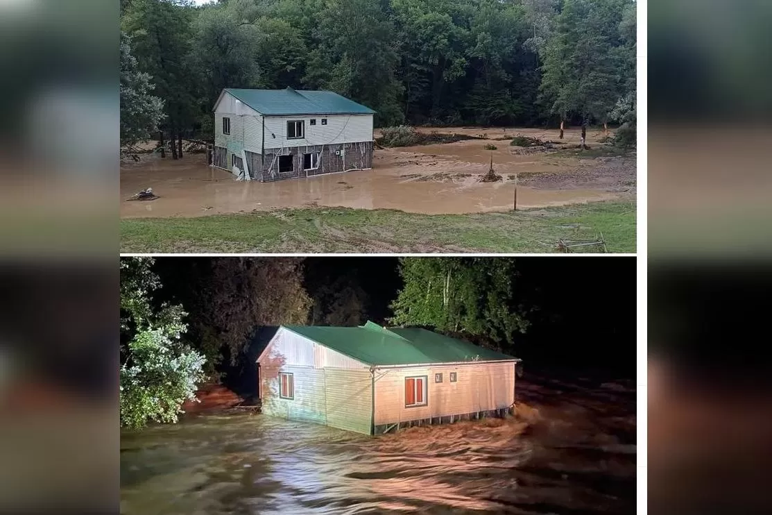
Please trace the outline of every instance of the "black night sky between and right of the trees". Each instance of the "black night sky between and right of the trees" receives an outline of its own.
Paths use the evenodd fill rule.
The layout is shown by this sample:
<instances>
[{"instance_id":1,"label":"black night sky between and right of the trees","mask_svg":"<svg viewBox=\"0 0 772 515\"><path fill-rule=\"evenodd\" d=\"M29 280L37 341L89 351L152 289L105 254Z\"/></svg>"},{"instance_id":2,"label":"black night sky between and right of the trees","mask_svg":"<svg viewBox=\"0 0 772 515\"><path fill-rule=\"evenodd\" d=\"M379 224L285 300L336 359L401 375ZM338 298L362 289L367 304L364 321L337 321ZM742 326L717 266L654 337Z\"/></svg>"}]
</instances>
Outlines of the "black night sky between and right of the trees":
<instances>
[{"instance_id":1,"label":"black night sky between and right of the trees","mask_svg":"<svg viewBox=\"0 0 772 515\"><path fill-rule=\"evenodd\" d=\"M515 344L517 357L537 366L635 374L635 258L557 256L515 262L518 295L540 307ZM391 317L389 304L402 286L397 258L310 258L305 264L306 276L354 270L370 295L368 317L378 324Z\"/></svg>"}]
</instances>

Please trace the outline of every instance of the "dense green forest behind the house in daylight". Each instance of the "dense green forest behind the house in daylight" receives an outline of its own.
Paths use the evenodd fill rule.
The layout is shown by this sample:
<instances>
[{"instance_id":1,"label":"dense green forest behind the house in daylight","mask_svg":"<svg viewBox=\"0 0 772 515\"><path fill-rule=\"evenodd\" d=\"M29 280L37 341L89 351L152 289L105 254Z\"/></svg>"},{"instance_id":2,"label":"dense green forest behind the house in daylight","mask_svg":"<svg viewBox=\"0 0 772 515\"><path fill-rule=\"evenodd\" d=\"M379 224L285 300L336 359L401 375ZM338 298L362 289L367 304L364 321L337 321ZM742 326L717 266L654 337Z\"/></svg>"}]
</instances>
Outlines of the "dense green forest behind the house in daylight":
<instances>
[{"instance_id":1,"label":"dense green forest behind the house in daylight","mask_svg":"<svg viewBox=\"0 0 772 515\"><path fill-rule=\"evenodd\" d=\"M121 0L121 143L157 137L158 128L211 139L225 87L333 90L376 110L378 127L634 129L635 8L634 0Z\"/></svg>"}]
</instances>

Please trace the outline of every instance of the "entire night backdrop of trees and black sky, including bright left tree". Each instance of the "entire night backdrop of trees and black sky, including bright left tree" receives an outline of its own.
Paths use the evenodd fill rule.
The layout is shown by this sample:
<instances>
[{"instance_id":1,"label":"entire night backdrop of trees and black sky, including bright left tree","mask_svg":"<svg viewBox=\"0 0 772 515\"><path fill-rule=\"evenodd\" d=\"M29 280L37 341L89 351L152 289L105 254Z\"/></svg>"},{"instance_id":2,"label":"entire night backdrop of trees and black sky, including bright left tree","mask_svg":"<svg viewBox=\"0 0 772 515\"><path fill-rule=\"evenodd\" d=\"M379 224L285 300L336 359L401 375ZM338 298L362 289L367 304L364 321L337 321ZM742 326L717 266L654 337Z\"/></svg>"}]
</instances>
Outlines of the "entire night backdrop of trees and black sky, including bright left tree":
<instances>
[{"instance_id":1,"label":"entire night backdrop of trees and black sky, including bright left tree","mask_svg":"<svg viewBox=\"0 0 772 515\"><path fill-rule=\"evenodd\" d=\"M203 381L243 382L280 324L427 327L529 366L634 371L635 281L602 285L635 260L568 261L122 259L122 425L174 422Z\"/></svg>"}]
</instances>

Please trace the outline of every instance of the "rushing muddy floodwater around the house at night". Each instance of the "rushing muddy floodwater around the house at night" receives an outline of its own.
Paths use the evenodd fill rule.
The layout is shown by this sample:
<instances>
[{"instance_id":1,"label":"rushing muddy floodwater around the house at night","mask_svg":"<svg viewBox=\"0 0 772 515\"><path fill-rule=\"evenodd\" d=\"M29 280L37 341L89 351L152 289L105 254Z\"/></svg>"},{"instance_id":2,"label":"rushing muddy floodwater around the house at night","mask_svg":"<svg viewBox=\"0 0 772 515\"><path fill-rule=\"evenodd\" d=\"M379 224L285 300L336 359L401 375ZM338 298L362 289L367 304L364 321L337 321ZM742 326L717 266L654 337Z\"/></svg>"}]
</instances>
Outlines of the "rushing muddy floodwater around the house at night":
<instances>
[{"instance_id":1,"label":"rushing muddy floodwater around the house at night","mask_svg":"<svg viewBox=\"0 0 772 515\"><path fill-rule=\"evenodd\" d=\"M635 387L520 381L520 415L369 437L200 415L121 438L121 513L635 513Z\"/></svg>"}]
</instances>

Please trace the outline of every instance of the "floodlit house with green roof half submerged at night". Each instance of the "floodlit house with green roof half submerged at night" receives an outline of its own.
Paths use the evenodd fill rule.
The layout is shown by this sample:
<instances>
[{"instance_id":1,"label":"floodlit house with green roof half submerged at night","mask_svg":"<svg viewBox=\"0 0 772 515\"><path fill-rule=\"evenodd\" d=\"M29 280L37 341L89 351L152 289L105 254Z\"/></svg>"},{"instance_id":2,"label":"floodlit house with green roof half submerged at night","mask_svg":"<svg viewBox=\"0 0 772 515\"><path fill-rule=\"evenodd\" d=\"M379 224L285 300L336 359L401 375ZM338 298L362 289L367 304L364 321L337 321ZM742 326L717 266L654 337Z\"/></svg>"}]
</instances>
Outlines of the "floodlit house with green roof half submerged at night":
<instances>
[{"instance_id":1,"label":"floodlit house with green roof half submerged at night","mask_svg":"<svg viewBox=\"0 0 772 515\"><path fill-rule=\"evenodd\" d=\"M518 361L425 329L281 326L259 398L266 415L382 434L510 413Z\"/></svg>"}]
</instances>

